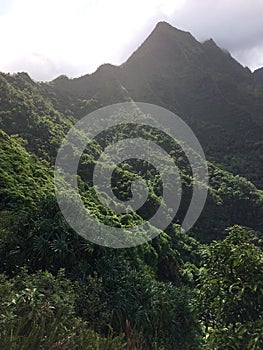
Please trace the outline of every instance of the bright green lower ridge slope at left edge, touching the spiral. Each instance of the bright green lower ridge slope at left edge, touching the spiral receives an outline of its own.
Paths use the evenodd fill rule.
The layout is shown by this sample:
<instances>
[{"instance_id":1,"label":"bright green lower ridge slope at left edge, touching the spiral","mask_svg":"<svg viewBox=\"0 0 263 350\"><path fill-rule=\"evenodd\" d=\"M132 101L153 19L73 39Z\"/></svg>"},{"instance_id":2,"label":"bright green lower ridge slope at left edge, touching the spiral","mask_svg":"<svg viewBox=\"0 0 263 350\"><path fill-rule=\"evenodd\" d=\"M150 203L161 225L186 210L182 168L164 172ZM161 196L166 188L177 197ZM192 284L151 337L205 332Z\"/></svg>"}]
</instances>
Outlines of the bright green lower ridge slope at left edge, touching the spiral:
<instances>
[{"instance_id":1,"label":"bright green lower ridge slope at left edge, touching the spiral","mask_svg":"<svg viewBox=\"0 0 263 350\"><path fill-rule=\"evenodd\" d=\"M51 170L26 152L19 141L0 130L0 212L36 205L53 189Z\"/></svg>"}]
</instances>

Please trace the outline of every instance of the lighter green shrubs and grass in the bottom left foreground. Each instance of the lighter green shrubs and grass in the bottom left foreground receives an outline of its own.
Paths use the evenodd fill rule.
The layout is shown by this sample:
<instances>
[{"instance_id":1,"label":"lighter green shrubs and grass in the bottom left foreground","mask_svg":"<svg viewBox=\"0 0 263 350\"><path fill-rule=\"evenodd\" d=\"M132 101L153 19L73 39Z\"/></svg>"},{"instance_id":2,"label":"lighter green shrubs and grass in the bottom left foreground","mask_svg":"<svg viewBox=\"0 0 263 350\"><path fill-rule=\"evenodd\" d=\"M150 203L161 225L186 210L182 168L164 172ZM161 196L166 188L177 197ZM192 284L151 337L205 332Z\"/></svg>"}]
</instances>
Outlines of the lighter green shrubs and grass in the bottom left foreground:
<instances>
[{"instance_id":1,"label":"lighter green shrubs and grass in the bottom left foreground","mask_svg":"<svg viewBox=\"0 0 263 350\"><path fill-rule=\"evenodd\" d=\"M23 269L12 279L0 275L0 282L1 349L121 350L126 347L123 335L115 337L112 331L105 335L94 329L96 322L101 325L108 322L97 294L98 279L89 278L83 287L65 278L62 271L55 277L48 272L29 275ZM80 308L84 318L79 317Z\"/></svg>"}]
</instances>

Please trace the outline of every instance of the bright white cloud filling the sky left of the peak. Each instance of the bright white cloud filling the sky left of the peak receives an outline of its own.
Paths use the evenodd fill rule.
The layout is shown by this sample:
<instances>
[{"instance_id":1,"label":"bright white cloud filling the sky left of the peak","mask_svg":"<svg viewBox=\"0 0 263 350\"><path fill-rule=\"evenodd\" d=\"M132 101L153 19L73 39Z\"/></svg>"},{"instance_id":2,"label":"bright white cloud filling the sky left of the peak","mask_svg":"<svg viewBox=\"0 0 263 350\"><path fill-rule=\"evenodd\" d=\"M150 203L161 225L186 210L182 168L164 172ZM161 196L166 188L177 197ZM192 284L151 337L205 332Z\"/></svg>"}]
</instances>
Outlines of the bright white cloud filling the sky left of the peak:
<instances>
[{"instance_id":1,"label":"bright white cloud filling the sky left of the peak","mask_svg":"<svg viewBox=\"0 0 263 350\"><path fill-rule=\"evenodd\" d=\"M122 46L155 15L157 2L15 0L0 19L0 69L46 79L119 63Z\"/></svg>"}]
</instances>

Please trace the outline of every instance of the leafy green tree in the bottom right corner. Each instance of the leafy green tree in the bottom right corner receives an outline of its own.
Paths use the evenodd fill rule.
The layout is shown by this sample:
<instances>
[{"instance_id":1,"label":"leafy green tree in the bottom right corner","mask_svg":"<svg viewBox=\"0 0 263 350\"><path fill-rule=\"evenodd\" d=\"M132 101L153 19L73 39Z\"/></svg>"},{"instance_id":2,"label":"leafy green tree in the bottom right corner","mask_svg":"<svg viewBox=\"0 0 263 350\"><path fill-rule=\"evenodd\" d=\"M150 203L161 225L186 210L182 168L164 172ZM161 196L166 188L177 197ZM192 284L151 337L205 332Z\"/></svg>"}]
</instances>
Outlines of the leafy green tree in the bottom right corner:
<instances>
[{"instance_id":1,"label":"leafy green tree in the bottom right corner","mask_svg":"<svg viewBox=\"0 0 263 350\"><path fill-rule=\"evenodd\" d=\"M262 349L260 243L251 230L234 226L225 240L204 248L198 309L207 349Z\"/></svg>"}]
</instances>

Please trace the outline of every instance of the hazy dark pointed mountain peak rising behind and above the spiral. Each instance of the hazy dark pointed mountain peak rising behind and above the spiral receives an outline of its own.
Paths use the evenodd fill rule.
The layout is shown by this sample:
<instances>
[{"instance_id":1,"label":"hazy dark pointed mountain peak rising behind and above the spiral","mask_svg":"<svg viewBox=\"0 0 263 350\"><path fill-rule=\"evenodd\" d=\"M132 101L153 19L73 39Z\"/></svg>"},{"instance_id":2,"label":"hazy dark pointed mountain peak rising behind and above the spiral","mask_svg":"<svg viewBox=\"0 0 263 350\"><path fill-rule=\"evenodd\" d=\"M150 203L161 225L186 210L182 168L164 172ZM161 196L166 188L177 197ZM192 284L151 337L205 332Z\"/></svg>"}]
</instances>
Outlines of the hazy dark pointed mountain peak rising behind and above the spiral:
<instances>
[{"instance_id":1,"label":"hazy dark pointed mountain peak rising behind and above the spiral","mask_svg":"<svg viewBox=\"0 0 263 350\"><path fill-rule=\"evenodd\" d=\"M210 160L263 187L263 91L249 69L213 40L199 43L161 22L120 67L62 76L42 91L76 118L129 99L164 106L186 120Z\"/></svg>"}]
</instances>

